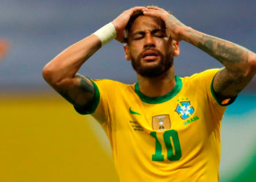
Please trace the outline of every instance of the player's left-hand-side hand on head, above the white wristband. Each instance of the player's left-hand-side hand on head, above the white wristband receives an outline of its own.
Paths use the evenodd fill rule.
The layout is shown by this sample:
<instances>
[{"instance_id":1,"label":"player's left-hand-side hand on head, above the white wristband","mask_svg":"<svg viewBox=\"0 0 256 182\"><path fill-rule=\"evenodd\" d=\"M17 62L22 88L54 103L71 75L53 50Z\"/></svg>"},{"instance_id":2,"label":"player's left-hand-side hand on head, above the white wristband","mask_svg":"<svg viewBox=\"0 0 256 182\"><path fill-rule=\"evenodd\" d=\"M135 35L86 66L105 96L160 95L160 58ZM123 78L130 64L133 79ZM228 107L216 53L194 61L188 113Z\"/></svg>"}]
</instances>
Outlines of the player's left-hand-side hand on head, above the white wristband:
<instances>
[{"instance_id":1,"label":"player's left-hand-side hand on head, above the white wristband","mask_svg":"<svg viewBox=\"0 0 256 182\"><path fill-rule=\"evenodd\" d=\"M125 27L129 21L129 18L132 16L134 12L142 11L146 9L146 7L132 7L121 13L115 20L112 21L113 25L116 28L116 40L124 43L124 31Z\"/></svg>"}]
</instances>

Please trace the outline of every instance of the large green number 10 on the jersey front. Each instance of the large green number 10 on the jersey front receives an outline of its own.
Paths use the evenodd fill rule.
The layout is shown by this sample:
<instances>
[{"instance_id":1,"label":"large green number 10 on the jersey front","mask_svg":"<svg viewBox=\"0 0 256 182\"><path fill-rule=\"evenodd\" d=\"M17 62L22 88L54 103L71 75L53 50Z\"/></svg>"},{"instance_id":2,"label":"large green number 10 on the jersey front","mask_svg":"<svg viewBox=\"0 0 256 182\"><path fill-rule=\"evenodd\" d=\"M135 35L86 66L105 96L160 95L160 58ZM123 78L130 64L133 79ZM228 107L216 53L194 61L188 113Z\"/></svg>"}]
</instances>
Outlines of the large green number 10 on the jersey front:
<instances>
[{"instance_id":1,"label":"large green number 10 on the jersey front","mask_svg":"<svg viewBox=\"0 0 256 182\"><path fill-rule=\"evenodd\" d=\"M150 135L156 139L156 150L155 154L152 155L152 161L164 161L165 156L162 154L162 145L157 138L157 132L151 132ZM162 137L167 149L167 159L170 161L181 159L181 144L178 140L178 132L176 130L167 130Z\"/></svg>"}]
</instances>

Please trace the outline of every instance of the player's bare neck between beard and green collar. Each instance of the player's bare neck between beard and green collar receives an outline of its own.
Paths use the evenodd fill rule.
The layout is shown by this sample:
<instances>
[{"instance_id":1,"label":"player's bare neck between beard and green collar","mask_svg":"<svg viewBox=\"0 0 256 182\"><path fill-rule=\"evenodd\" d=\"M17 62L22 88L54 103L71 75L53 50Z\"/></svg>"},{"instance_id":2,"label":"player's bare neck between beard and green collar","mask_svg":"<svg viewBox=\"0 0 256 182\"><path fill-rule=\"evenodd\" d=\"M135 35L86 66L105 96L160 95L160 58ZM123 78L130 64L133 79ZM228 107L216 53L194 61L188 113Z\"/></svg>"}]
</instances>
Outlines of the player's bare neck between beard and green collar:
<instances>
[{"instance_id":1,"label":"player's bare neck between beard and green collar","mask_svg":"<svg viewBox=\"0 0 256 182\"><path fill-rule=\"evenodd\" d=\"M148 97L159 97L167 94L176 85L174 67L170 67L164 74L148 78L138 74L140 92Z\"/></svg>"}]
</instances>

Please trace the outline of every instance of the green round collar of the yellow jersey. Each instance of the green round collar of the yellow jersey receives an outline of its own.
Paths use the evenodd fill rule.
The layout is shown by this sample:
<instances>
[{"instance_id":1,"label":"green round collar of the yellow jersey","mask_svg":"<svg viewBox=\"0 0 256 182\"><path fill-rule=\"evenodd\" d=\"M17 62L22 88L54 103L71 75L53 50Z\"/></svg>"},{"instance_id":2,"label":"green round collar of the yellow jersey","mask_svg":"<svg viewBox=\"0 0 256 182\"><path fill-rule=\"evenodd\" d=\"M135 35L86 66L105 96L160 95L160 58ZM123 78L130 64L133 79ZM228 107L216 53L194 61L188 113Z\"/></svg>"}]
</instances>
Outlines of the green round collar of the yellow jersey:
<instances>
[{"instance_id":1,"label":"green round collar of the yellow jersey","mask_svg":"<svg viewBox=\"0 0 256 182\"><path fill-rule=\"evenodd\" d=\"M140 92L140 87L138 82L136 82L135 84L135 92L140 97L140 99L145 103L151 103L151 104L164 103L165 101L170 100L175 95L177 95L177 93L181 90L181 87L182 87L181 78L178 76L175 76L175 81L176 81L176 85L173 88L173 90L170 90L170 92L168 92L167 94L159 97L148 97L144 95L142 92Z\"/></svg>"}]
</instances>

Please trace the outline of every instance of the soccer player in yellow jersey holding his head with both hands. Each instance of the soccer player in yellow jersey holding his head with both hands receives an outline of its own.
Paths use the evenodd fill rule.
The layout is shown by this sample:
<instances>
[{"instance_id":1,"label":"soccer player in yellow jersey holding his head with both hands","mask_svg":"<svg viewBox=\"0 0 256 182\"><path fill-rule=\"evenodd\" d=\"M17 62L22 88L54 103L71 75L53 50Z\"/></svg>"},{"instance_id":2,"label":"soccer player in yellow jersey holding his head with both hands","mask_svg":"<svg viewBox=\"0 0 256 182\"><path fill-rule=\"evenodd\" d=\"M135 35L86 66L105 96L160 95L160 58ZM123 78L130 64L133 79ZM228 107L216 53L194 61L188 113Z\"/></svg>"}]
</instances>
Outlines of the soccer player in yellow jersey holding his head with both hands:
<instances>
[{"instance_id":1,"label":"soccer player in yellow jersey holding his head with both hands","mask_svg":"<svg viewBox=\"0 0 256 182\"><path fill-rule=\"evenodd\" d=\"M116 38L138 75L135 84L77 74ZM187 41L223 64L175 76L173 57ZM106 63L108 64L108 63ZM218 181L225 108L256 73L256 55L184 25L159 7L133 7L61 52L45 80L80 114L92 114L110 140L120 181Z\"/></svg>"}]
</instances>

